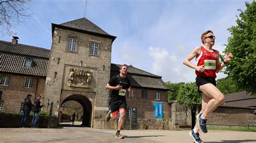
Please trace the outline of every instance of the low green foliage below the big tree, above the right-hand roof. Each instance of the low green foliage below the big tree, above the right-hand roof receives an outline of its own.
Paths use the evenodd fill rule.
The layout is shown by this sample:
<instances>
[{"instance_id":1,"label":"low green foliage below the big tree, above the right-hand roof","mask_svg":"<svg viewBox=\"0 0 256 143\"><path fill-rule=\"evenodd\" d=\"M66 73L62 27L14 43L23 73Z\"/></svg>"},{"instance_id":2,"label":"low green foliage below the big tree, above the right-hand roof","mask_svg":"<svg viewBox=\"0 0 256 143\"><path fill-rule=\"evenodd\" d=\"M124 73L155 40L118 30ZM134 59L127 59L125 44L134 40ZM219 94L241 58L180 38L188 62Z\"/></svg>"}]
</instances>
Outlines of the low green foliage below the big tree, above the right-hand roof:
<instances>
[{"instance_id":1,"label":"low green foliage below the big tree, above the right-hand roof","mask_svg":"<svg viewBox=\"0 0 256 143\"><path fill-rule=\"evenodd\" d=\"M217 81L217 88L225 95L240 91L245 91L244 88L238 86L238 84L230 77L221 78Z\"/></svg>"}]
</instances>

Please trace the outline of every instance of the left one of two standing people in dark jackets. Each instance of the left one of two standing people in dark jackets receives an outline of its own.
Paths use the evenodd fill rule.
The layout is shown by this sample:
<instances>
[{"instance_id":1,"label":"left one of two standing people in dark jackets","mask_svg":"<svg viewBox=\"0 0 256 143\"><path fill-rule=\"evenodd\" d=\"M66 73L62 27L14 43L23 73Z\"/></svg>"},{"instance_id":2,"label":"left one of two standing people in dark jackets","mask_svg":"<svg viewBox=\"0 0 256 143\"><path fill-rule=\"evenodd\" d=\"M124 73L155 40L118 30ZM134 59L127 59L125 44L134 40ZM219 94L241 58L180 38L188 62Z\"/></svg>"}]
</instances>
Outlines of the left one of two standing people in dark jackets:
<instances>
[{"instance_id":1,"label":"left one of two standing people in dark jackets","mask_svg":"<svg viewBox=\"0 0 256 143\"><path fill-rule=\"evenodd\" d=\"M29 114L31 112L31 108L32 106L35 106L35 104L32 104L31 102L31 97L32 95L31 94L28 94L26 96L26 98L24 99L24 104L23 104L23 118L22 118L22 121L21 121L21 126L19 127L26 127L26 121L28 120L29 118Z\"/></svg>"}]
</instances>

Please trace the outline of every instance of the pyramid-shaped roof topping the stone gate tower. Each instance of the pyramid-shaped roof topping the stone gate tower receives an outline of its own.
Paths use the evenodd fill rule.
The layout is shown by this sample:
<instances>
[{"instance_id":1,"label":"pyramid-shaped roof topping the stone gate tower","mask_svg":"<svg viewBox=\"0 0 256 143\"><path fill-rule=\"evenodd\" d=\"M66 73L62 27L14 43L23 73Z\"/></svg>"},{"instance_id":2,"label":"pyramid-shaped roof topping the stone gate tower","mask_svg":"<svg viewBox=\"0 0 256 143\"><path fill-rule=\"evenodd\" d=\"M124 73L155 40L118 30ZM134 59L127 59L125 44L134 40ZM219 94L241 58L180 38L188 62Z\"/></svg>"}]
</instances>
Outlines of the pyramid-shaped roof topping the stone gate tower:
<instances>
[{"instance_id":1,"label":"pyramid-shaped roof topping the stone gate tower","mask_svg":"<svg viewBox=\"0 0 256 143\"><path fill-rule=\"evenodd\" d=\"M66 22L63 24L53 24L52 23L52 35L55 31L55 28L67 29L72 31L77 31L81 33L87 33L89 35L110 38L112 42L116 39L116 36L111 36L109 33L100 29L96 24L92 23L86 18L79 18L74 21Z\"/></svg>"}]
</instances>

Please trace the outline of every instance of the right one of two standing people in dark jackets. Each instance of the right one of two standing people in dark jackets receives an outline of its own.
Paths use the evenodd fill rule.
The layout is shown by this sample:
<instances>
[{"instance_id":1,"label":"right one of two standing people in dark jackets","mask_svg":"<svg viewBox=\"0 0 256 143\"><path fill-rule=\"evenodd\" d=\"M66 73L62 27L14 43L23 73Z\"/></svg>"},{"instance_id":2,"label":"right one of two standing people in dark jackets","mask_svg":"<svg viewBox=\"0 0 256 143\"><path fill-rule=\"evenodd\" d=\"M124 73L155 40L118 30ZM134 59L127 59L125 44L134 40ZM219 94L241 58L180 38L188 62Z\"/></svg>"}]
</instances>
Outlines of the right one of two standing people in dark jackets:
<instances>
[{"instance_id":1,"label":"right one of two standing people in dark jackets","mask_svg":"<svg viewBox=\"0 0 256 143\"><path fill-rule=\"evenodd\" d=\"M37 122L39 120L39 112L40 112L40 108L42 108L44 105L41 106L41 96L38 96L37 99L35 100L34 104L36 104L36 106L32 107L32 112L34 112L33 115L33 119L32 119L32 124L31 124L31 128L36 128L37 126Z\"/></svg>"}]
</instances>

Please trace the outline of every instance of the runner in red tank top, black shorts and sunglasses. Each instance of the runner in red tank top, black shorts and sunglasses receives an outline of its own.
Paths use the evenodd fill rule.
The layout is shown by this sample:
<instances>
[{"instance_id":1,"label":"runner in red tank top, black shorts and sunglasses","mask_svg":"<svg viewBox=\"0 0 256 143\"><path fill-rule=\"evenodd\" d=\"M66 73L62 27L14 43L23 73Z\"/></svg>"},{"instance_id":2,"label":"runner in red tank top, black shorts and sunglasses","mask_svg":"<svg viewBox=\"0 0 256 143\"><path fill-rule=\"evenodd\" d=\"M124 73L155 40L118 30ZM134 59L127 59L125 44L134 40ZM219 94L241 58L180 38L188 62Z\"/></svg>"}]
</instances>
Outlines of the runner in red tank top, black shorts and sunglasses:
<instances>
[{"instance_id":1,"label":"runner in red tank top, black shorts and sunglasses","mask_svg":"<svg viewBox=\"0 0 256 143\"><path fill-rule=\"evenodd\" d=\"M208 30L201 35L204 46L196 47L184 60L183 64L196 70L196 84L199 92L202 92L202 110L197 115L197 122L190 136L195 142L202 142L199 137L200 131L207 133L207 115L215 110L224 101L224 95L216 87L216 73L223 69L232 58L232 53L226 53L224 61L219 61L219 51L212 49L215 43L213 32ZM190 61L196 57L197 65Z\"/></svg>"}]
</instances>

